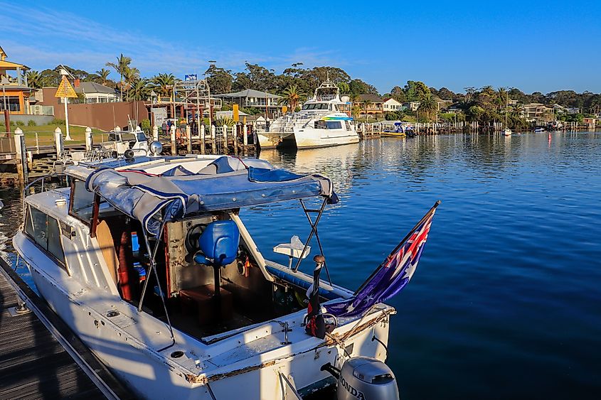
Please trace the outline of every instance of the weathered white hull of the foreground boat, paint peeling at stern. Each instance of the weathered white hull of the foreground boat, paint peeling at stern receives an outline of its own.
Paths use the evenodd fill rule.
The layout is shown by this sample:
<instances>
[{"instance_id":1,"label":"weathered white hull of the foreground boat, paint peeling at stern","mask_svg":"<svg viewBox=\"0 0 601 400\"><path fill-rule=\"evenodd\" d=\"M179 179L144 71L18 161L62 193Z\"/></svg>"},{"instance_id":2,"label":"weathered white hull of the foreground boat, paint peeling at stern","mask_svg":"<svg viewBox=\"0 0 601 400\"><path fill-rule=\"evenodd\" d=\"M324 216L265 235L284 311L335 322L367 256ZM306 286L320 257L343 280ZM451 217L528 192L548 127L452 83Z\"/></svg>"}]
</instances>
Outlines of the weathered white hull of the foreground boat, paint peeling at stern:
<instances>
[{"instance_id":1,"label":"weathered white hull of the foreground boat, paint peeling at stern","mask_svg":"<svg viewBox=\"0 0 601 400\"><path fill-rule=\"evenodd\" d=\"M203 374L185 374L181 369L170 365L167 362L169 360L160 352L149 350L143 342L128 337L115 325L114 320L105 315L107 310L123 310L124 306L134 313L136 311L133 306L120 298L114 298L112 302L106 301L106 297L100 292L97 293L97 297L90 296L94 295L90 293L93 291L90 288L80 289L82 293L87 291L87 301L78 299L78 293L70 293L76 286L73 278L50 259L41 259L34 251L35 246L27 244L27 241L28 239L21 234L20 240L14 241L15 248L28 264L41 296L85 345L90 347L139 398L211 400L213 397L208 389L210 387L217 399L285 399L287 389L282 386L280 374L294 382L299 390L314 387L319 382L327 382L330 375L320 368L328 362L340 367L344 362L344 348L351 356L363 355L385 360L384 347L378 341L371 340L373 335L376 335L382 342L388 342L390 315L383 313L371 322L370 318L363 320L362 325L371 323L367 328L362 326L359 330L355 325L353 328L356 328L357 332L349 335L344 341L344 348L336 345L336 342L324 342L315 337L308 337L313 343L312 346L297 352L290 346L289 352L285 352L281 357L270 358L269 354L265 354L265 357L260 357L260 362L255 364L225 363L227 372L213 374L208 378L204 378ZM34 257L37 257L39 262L34 262ZM97 301L95 307L90 298L102 298L102 301ZM292 329L303 328L297 326ZM139 333L142 340L154 339L151 337L153 333L147 332L142 326L139 326ZM193 338L188 337L188 340ZM178 340L178 344L186 346L182 341ZM166 354L171 351L172 349L166 350Z\"/></svg>"}]
</instances>

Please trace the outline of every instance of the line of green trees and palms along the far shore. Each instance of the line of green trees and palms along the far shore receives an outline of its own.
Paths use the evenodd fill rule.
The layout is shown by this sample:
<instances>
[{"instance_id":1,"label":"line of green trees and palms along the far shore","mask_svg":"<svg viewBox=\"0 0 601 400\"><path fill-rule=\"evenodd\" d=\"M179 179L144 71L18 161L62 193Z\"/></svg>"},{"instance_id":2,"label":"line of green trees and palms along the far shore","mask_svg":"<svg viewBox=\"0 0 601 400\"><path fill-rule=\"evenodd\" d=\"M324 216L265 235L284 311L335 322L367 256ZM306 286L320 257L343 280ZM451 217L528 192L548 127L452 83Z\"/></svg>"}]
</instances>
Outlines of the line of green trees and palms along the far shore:
<instances>
[{"instance_id":1,"label":"line of green trees and palms along the far shore","mask_svg":"<svg viewBox=\"0 0 601 400\"><path fill-rule=\"evenodd\" d=\"M97 82L109 87L115 87L122 93L124 100L147 99L154 90L161 97L171 97L173 87L178 78L172 73L159 73L153 77L142 77L137 67L132 65L132 58L120 54L115 61L107 62L95 72L87 72L65 66L73 77L83 82ZM339 67L312 67L306 68L303 63L294 63L277 74L275 70L268 69L258 64L245 63L245 69L239 72L226 70L211 63L204 73L213 93L238 92L245 89L255 89L272 92L282 96L282 104L289 109L297 109L314 90L326 79L331 80L341 90L341 93L350 97L353 102L353 114L358 116L365 112L370 103L362 100L361 94L376 94L378 90L373 85L353 78L349 73ZM60 66L53 70L46 69L40 72L31 70L27 73L28 84L39 88L57 86L60 82ZM465 87L464 93L452 92L446 87L436 89L428 87L424 82L409 80L403 87L394 86L390 92L382 97L392 97L398 102L420 102L416 113L392 112L388 119L419 119L430 121L433 118L454 118L467 121L501 121L505 118L514 126L523 124L521 112L523 104L561 104L565 107L577 107L587 114L601 112L601 94L592 92L577 93L573 90L560 90L543 94L533 92L526 94L515 87L491 86L482 88ZM508 107L509 99L517 101ZM454 104L461 113L459 116L445 115L444 108ZM421 114L421 115L420 115Z\"/></svg>"}]
</instances>

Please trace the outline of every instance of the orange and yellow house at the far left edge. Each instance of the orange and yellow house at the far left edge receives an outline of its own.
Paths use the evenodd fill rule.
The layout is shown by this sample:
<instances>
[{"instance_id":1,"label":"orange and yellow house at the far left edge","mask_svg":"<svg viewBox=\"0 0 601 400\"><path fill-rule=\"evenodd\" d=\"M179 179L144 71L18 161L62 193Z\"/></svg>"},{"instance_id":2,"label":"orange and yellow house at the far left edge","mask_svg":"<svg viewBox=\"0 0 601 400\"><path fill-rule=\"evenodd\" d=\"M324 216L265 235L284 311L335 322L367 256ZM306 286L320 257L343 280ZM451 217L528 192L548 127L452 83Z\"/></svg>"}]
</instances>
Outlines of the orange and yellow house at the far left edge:
<instances>
[{"instance_id":1,"label":"orange and yellow house at the far left edge","mask_svg":"<svg viewBox=\"0 0 601 400\"><path fill-rule=\"evenodd\" d=\"M9 110L10 114L30 114L29 97L36 92L27 84L29 70L23 64L6 60L6 53L0 47L0 111Z\"/></svg>"}]
</instances>

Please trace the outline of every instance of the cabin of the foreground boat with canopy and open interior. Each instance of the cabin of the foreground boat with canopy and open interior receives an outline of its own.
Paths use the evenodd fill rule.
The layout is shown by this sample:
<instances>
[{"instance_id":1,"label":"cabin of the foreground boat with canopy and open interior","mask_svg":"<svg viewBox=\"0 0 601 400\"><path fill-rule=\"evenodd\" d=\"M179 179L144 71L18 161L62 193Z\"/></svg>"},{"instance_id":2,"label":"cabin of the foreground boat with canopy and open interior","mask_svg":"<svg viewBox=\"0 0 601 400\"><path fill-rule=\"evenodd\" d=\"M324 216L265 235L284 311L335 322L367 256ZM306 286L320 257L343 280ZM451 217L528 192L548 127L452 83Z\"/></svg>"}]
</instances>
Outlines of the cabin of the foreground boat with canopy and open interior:
<instances>
[{"instance_id":1,"label":"cabin of the foreground boat with canopy and open interior","mask_svg":"<svg viewBox=\"0 0 601 400\"><path fill-rule=\"evenodd\" d=\"M66 173L69 187L53 191L65 215L26 200L24 232L73 278L198 339L307 308L310 277L266 261L239 212L316 195L325 205L335 199L326 178L227 156L136 157ZM321 294L350 293L324 282Z\"/></svg>"}]
</instances>

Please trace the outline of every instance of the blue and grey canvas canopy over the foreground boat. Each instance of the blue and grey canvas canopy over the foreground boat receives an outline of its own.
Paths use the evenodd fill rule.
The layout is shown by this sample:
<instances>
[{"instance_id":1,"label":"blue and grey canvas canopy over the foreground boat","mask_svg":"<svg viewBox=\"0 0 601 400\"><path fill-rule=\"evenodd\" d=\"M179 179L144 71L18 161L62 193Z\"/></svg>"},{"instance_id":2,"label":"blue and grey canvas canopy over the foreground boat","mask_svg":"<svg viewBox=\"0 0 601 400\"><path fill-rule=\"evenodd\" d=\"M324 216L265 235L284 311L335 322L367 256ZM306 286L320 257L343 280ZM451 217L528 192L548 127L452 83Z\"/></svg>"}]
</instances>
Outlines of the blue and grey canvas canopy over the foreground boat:
<instances>
[{"instance_id":1,"label":"blue and grey canvas canopy over the foreground boat","mask_svg":"<svg viewBox=\"0 0 601 400\"><path fill-rule=\"evenodd\" d=\"M159 215L169 222L199 212L314 196L338 201L329 178L275 169L266 161L258 165L240 166L222 157L203 168L205 171L174 168L158 176L135 166L124 171L100 166L87 176L86 187L142 222L153 235L159 230Z\"/></svg>"}]
</instances>

